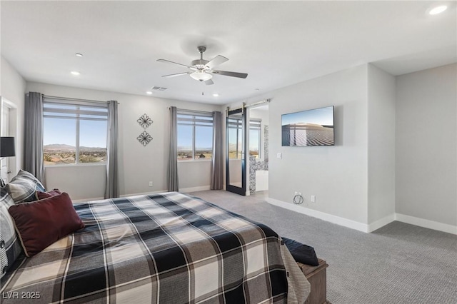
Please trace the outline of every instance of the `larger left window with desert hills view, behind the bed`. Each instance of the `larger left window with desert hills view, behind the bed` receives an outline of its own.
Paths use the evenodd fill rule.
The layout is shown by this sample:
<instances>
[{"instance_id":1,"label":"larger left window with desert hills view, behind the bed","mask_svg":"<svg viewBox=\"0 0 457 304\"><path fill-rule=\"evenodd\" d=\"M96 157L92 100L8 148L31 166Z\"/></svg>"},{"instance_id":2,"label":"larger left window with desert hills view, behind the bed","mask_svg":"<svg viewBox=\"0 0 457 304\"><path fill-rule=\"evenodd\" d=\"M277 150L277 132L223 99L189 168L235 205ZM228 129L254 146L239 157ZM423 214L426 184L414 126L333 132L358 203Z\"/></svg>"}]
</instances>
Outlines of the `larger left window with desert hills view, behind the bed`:
<instances>
[{"instance_id":1,"label":"larger left window with desert hills view, behind the bed","mask_svg":"<svg viewBox=\"0 0 457 304\"><path fill-rule=\"evenodd\" d=\"M44 98L44 165L106 162L104 103Z\"/></svg>"}]
</instances>

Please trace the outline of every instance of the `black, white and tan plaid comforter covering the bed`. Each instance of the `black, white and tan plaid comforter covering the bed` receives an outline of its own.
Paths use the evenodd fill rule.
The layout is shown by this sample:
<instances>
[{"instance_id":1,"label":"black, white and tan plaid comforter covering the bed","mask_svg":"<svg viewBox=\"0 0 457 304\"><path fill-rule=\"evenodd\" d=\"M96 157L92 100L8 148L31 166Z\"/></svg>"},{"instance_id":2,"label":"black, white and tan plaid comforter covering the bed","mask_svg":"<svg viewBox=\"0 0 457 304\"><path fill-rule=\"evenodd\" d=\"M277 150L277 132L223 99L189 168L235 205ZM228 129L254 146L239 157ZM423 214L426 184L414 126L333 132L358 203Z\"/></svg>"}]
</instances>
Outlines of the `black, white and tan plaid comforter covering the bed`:
<instances>
[{"instance_id":1,"label":"black, white and tan plaid comforter covering the bed","mask_svg":"<svg viewBox=\"0 0 457 304\"><path fill-rule=\"evenodd\" d=\"M1 280L2 303L286 303L309 293L273 230L199 198L74 207L86 228L22 258Z\"/></svg>"}]
</instances>

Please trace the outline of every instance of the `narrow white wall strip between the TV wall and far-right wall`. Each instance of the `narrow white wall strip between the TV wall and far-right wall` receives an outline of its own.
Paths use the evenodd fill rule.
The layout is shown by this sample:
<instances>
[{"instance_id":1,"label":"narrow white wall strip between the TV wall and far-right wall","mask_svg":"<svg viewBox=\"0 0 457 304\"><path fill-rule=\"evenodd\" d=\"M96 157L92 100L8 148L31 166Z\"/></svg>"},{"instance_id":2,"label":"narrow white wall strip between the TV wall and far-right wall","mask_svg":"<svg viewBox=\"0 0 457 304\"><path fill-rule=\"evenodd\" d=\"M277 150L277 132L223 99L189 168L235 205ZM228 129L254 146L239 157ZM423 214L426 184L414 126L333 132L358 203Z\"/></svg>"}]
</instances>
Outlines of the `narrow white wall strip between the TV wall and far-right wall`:
<instances>
[{"instance_id":1,"label":"narrow white wall strip between the TV wall and far-right wall","mask_svg":"<svg viewBox=\"0 0 457 304\"><path fill-rule=\"evenodd\" d=\"M395 218L395 77L368 64L368 223Z\"/></svg>"}]
</instances>

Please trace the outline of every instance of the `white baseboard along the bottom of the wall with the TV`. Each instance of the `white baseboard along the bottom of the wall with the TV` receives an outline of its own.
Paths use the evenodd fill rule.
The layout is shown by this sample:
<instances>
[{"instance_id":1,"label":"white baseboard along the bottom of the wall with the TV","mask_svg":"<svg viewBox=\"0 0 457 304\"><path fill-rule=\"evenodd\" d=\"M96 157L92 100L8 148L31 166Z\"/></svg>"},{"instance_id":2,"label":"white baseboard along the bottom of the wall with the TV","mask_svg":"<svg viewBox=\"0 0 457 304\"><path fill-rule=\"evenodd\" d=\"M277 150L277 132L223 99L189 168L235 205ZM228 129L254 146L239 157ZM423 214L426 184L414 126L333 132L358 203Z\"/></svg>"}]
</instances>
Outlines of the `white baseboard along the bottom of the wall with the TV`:
<instances>
[{"instance_id":1,"label":"white baseboard along the bottom of the wall with the TV","mask_svg":"<svg viewBox=\"0 0 457 304\"><path fill-rule=\"evenodd\" d=\"M340 226L345 226L348 228L352 228L355 230L359 230L362 232L369 232L368 231L368 225L363 224L363 223L358 223L356 221L348 220L347 218L341 218L340 216L333 216L328 213L324 213L321 211L316 211L310 208L306 207L301 207L296 204L291 204L291 203L286 203L283 201L278 201L274 198L266 198L266 201L268 203L271 203L271 205L278 206L281 208L286 208L291 211L296 211L298 213L303 213L306 214L306 216L312 216L313 218L319 218L323 221L327 221L330 223L334 223Z\"/></svg>"}]
</instances>

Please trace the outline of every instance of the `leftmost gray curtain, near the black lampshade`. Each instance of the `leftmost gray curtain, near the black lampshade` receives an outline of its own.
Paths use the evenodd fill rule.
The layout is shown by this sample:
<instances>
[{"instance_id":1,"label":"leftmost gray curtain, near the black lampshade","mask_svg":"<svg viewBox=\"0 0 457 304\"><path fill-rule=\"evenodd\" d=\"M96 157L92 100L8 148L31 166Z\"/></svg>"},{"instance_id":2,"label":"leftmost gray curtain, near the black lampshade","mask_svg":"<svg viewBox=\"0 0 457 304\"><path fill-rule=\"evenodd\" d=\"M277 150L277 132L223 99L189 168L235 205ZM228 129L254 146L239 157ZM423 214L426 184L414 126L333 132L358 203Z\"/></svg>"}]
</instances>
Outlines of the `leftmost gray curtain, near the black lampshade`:
<instances>
[{"instance_id":1,"label":"leftmost gray curtain, near the black lampshade","mask_svg":"<svg viewBox=\"0 0 457 304\"><path fill-rule=\"evenodd\" d=\"M43 95L29 92L25 98L24 170L44 183Z\"/></svg>"}]
</instances>

